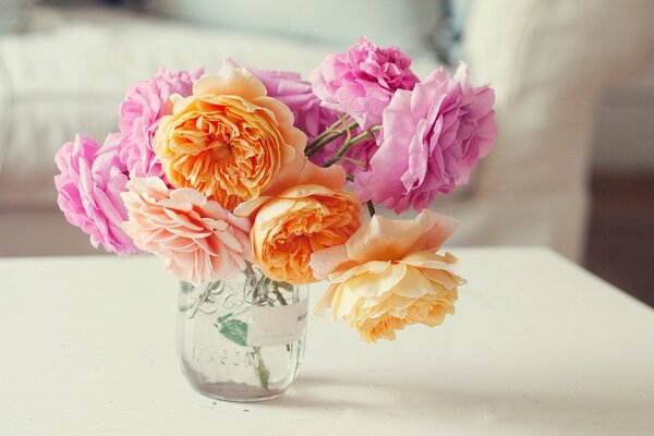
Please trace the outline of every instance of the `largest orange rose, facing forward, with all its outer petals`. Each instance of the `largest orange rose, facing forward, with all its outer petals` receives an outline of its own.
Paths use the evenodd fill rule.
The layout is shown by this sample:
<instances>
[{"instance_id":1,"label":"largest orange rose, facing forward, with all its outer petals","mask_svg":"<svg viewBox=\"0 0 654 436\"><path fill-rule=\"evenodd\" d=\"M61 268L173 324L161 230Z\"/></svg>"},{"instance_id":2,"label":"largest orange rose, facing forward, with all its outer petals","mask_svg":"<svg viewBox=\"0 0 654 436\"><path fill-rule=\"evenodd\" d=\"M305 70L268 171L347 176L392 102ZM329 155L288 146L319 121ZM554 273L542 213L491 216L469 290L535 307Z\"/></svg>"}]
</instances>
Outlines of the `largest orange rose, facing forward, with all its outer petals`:
<instances>
[{"instance_id":1,"label":"largest orange rose, facing forward, with all its outer petals","mask_svg":"<svg viewBox=\"0 0 654 436\"><path fill-rule=\"evenodd\" d=\"M262 82L245 69L205 76L193 95L172 96L154 149L169 182L193 187L233 209L256 198L282 165L303 154L306 135L293 114L266 96Z\"/></svg>"}]
</instances>

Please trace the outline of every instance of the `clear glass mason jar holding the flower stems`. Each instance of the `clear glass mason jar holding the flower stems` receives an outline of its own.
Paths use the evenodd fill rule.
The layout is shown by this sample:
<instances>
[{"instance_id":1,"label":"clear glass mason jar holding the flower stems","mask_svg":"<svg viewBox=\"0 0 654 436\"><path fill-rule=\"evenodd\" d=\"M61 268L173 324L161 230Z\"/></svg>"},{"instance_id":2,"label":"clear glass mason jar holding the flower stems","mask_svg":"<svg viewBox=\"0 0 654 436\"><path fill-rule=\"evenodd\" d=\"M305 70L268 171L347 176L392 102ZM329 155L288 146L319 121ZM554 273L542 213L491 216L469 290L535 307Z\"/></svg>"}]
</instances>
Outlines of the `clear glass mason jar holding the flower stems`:
<instances>
[{"instance_id":1,"label":"clear glass mason jar holding the flower stems","mask_svg":"<svg viewBox=\"0 0 654 436\"><path fill-rule=\"evenodd\" d=\"M254 266L229 280L181 282L177 349L191 386L227 401L282 395L304 354L307 291Z\"/></svg>"}]
</instances>

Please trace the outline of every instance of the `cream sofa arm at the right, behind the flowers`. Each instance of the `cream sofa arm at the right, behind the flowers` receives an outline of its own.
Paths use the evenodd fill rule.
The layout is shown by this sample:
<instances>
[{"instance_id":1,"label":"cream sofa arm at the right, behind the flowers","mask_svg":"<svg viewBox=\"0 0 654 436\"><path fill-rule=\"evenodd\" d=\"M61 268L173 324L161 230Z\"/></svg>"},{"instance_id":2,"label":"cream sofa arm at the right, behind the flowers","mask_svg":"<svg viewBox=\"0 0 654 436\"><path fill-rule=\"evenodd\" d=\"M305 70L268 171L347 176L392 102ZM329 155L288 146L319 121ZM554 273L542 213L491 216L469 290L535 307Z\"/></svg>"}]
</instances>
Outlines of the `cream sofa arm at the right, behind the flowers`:
<instances>
[{"instance_id":1,"label":"cream sofa arm at the right, behind the flowers","mask_svg":"<svg viewBox=\"0 0 654 436\"><path fill-rule=\"evenodd\" d=\"M652 16L650 0L474 1L464 51L496 89L499 126L474 194L455 211L476 243L547 243L581 258L598 109L654 61Z\"/></svg>"}]
</instances>

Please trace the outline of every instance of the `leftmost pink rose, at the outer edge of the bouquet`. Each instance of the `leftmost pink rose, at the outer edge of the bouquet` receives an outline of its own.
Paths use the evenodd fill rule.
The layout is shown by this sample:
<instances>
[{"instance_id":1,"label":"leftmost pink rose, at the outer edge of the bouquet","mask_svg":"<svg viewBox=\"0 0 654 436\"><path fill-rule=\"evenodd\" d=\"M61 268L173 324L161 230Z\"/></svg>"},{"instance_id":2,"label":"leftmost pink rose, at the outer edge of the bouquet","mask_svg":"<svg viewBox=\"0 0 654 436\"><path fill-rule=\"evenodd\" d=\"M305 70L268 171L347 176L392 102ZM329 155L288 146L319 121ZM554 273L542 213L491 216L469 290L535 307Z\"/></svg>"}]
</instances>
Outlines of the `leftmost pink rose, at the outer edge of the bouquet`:
<instances>
[{"instance_id":1,"label":"leftmost pink rose, at the outer edge of the bouquet","mask_svg":"<svg viewBox=\"0 0 654 436\"><path fill-rule=\"evenodd\" d=\"M128 211L120 199L128 177L118 158L119 137L107 137L104 147L82 135L66 143L55 156L60 174L55 177L57 203L65 219L90 235L96 249L102 245L119 255L137 253L121 229Z\"/></svg>"}]
</instances>

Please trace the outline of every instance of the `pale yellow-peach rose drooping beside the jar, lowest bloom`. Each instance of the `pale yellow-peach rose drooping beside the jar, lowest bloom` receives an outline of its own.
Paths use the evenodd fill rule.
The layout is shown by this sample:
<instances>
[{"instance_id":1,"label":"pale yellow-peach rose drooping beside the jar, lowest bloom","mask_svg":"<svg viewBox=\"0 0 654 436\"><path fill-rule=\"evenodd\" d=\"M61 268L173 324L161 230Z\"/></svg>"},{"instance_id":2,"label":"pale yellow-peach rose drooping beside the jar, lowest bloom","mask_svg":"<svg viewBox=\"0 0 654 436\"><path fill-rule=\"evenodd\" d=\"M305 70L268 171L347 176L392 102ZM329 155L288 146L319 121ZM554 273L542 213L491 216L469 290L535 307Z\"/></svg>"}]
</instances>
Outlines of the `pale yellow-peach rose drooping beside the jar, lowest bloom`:
<instances>
[{"instance_id":1,"label":"pale yellow-peach rose drooping beside the jar, lowest bloom","mask_svg":"<svg viewBox=\"0 0 654 436\"><path fill-rule=\"evenodd\" d=\"M316 312L331 308L366 342L392 340L407 325L443 323L465 282L452 271L456 258L436 253L455 228L431 210L414 220L375 215L346 244L313 254L315 277L329 280Z\"/></svg>"}]
</instances>

